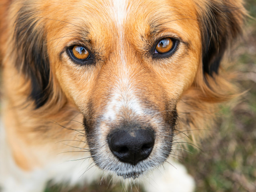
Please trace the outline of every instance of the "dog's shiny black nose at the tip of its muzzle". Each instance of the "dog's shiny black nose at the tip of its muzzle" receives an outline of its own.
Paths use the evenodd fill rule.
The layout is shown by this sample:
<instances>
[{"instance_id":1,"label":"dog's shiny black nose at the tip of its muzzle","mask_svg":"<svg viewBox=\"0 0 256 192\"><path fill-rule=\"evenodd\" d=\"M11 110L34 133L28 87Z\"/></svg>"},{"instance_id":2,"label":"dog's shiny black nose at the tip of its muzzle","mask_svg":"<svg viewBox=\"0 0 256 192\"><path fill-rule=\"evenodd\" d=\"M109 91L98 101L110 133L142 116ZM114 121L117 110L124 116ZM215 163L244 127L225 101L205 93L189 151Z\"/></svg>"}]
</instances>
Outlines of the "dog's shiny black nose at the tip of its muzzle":
<instances>
[{"instance_id":1,"label":"dog's shiny black nose at the tip of its muzzle","mask_svg":"<svg viewBox=\"0 0 256 192\"><path fill-rule=\"evenodd\" d=\"M112 153L122 162L136 165L146 159L154 146L154 133L149 129L114 130L108 136Z\"/></svg>"}]
</instances>

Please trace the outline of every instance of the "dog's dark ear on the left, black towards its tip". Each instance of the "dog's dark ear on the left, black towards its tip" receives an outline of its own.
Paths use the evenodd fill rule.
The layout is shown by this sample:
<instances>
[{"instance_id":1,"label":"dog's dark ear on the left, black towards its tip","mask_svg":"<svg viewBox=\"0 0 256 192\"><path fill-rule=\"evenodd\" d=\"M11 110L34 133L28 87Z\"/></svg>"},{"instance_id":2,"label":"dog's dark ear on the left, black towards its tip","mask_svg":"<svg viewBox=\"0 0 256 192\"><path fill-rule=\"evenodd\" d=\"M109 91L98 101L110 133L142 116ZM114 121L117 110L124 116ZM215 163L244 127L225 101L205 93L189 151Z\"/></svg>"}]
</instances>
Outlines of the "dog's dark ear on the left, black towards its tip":
<instances>
[{"instance_id":1,"label":"dog's dark ear on the left, black towards its tip","mask_svg":"<svg viewBox=\"0 0 256 192\"><path fill-rule=\"evenodd\" d=\"M45 39L44 27L34 11L25 6L21 8L14 31L15 64L31 80L30 98L35 100L36 108L43 106L49 96L50 64Z\"/></svg>"}]
</instances>

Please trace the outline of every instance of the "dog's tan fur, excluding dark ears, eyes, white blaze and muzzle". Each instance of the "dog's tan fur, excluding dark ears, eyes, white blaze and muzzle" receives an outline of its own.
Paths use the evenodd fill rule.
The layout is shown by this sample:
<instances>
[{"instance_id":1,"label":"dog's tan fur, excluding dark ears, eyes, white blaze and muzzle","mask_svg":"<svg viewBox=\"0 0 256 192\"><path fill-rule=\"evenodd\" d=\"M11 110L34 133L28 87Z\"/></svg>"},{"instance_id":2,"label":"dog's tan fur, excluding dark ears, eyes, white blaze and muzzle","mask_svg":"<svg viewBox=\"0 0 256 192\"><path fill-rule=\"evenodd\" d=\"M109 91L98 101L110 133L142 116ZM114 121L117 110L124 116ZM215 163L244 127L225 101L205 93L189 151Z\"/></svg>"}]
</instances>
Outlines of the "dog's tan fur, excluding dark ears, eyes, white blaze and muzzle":
<instances>
[{"instance_id":1,"label":"dog's tan fur, excluding dark ears, eyes, white blaze and muzzle","mask_svg":"<svg viewBox=\"0 0 256 192\"><path fill-rule=\"evenodd\" d=\"M65 144L70 146L88 147L84 142L69 140L78 140L79 134L85 134L83 116L94 122L104 114L111 98L110 90L124 76L131 87L137 88L134 94L141 98L142 103L147 101L152 104L163 116L167 100L172 100L172 110L177 104L180 116L175 133L208 129L212 126L217 104L231 98L233 87L226 81L226 75L214 74L211 77L205 74L206 83L202 70L202 26L199 18L208 12L208 4L221 1L129 1L122 32L120 26L115 24L111 1L33 1L29 6L36 12L34 19L38 22L35 28L44 30L46 36L50 60L48 88L51 90L46 104L34 109L34 101L28 100L30 79L16 70L14 63L17 55L10 51L16 46L13 27L17 12L24 6L23 2L30 1L13 1L10 8L9 1L3 2L4 6L0 6L2 113L12 154L24 170L44 166L55 154L65 152L67 146L60 141L68 140ZM242 25L242 3L230 2L242 9L235 15L239 25ZM148 24L153 20L161 24L161 29L154 36ZM169 35L181 37L184 43L180 44L179 51L168 59L168 63L148 57L145 47L140 46L145 45L148 39L154 42ZM70 62L63 50L71 42L86 44L87 48L99 52L97 64L79 66ZM120 65L123 60L125 67ZM120 89L123 92L128 90L127 86L120 86ZM93 107L88 108L88 103ZM132 111L122 111L122 116L132 118ZM108 129L110 127L106 126L106 134ZM198 136L203 137L205 133L190 132L195 142ZM65 153L58 157L62 156L77 158L80 154Z\"/></svg>"}]
</instances>

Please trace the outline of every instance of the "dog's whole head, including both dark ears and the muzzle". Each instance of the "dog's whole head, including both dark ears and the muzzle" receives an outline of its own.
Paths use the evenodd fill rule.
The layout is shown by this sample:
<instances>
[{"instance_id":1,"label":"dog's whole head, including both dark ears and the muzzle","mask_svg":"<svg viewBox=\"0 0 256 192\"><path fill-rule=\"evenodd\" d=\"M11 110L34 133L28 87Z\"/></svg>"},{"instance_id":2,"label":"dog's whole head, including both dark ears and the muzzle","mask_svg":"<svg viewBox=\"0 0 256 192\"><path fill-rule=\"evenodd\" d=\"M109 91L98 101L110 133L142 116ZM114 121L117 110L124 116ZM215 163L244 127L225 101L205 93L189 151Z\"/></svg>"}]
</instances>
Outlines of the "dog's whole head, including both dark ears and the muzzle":
<instances>
[{"instance_id":1,"label":"dog's whole head, including both dark ears and the muzzle","mask_svg":"<svg viewBox=\"0 0 256 192\"><path fill-rule=\"evenodd\" d=\"M52 90L62 94L82 113L94 162L124 178L168 158L178 103L191 89L205 102L204 78L217 72L242 14L231 25L222 1L203 0L26 3L16 3L16 67L32 80L36 110L52 105Z\"/></svg>"}]
</instances>

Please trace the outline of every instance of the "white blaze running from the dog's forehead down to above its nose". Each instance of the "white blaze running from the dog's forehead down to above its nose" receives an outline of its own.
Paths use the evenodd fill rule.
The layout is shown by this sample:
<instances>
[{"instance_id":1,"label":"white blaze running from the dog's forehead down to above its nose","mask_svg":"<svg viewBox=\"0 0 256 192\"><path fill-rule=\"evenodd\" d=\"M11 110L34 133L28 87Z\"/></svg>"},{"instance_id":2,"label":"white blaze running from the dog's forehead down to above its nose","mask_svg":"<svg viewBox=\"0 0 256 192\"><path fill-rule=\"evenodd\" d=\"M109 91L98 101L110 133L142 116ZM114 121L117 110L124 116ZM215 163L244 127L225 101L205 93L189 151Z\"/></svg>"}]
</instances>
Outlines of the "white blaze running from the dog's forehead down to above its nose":
<instances>
[{"instance_id":1,"label":"white blaze running from the dog's forehead down to above its nose","mask_svg":"<svg viewBox=\"0 0 256 192\"><path fill-rule=\"evenodd\" d=\"M126 0L113 0L113 21L118 30L118 39L116 46L116 57L118 57L119 71L118 75L114 78L116 79L115 84L111 89L110 100L108 101L104 119L114 121L117 120L117 116L120 112L126 112L124 110L129 110L132 114L142 115L143 110L140 104L140 98L136 96L139 90L136 90L136 82L132 81L132 74L129 74L129 62L125 56L125 44L124 44L124 24L127 18L127 2Z\"/></svg>"}]
</instances>

